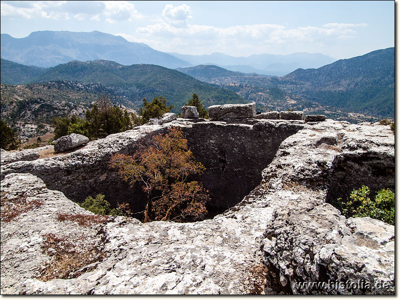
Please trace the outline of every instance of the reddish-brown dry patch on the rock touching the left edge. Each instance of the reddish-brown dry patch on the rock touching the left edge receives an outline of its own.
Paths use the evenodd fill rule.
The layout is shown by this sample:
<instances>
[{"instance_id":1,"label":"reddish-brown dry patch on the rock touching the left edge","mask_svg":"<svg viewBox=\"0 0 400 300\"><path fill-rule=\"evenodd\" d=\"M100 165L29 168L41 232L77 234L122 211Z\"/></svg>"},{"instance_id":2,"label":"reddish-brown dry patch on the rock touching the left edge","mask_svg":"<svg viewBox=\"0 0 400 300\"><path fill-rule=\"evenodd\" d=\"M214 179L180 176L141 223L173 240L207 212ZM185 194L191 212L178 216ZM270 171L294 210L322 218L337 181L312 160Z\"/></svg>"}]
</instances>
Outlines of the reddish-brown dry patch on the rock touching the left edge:
<instances>
[{"instance_id":1,"label":"reddish-brown dry patch on the rock touching the left edge","mask_svg":"<svg viewBox=\"0 0 400 300\"><path fill-rule=\"evenodd\" d=\"M39 207L43 204L40 200L28 201L26 197L7 198L5 193L1 193L0 215L2 222L9 222L18 215Z\"/></svg>"}]
</instances>

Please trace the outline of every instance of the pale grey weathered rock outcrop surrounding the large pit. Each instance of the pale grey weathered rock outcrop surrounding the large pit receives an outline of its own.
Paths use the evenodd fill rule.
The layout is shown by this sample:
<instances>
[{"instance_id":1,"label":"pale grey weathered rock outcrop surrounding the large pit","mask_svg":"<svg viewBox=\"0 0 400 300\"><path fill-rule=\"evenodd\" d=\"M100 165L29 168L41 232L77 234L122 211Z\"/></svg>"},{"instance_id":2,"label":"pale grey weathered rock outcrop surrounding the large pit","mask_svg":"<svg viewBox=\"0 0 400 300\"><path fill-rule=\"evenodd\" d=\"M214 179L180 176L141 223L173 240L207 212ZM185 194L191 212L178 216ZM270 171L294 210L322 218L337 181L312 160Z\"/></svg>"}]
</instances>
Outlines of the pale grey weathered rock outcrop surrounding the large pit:
<instances>
[{"instance_id":1,"label":"pale grey weathered rock outcrop surrounding the large pit","mask_svg":"<svg viewBox=\"0 0 400 300\"><path fill-rule=\"evenodd\" d=\"M98 219L69 200L83 184L94 191L107 182L125 190L120 198L132 198L133 190L107 169L109 155L132 153L169 126L182 127L197 154L201 147L209 151L201 159L215 153L209 163L214 161L212 172L219 177L236 172L243 181L254 175L245 172L254 163L245 156L268 156L259 162L262 171L254 168L258 183L224 213L194 223ZM201 132L208 143L201 142ZM2 164L1 178L1 218L3 201L14 205L9 207L31 203L1 221L2 294L394 293L394 226L368 217L346 219L330 204L360 184L394 190L389 126L173 121L111 134L56 157ZM79 225L78 215L92 222ZM43 279L57 266L58 248L48 248L49 233L70 240L79 254L80 264L66 279ZM82 260L89 248L96 249L90 262Z\"/></svg>"}]
</instances>

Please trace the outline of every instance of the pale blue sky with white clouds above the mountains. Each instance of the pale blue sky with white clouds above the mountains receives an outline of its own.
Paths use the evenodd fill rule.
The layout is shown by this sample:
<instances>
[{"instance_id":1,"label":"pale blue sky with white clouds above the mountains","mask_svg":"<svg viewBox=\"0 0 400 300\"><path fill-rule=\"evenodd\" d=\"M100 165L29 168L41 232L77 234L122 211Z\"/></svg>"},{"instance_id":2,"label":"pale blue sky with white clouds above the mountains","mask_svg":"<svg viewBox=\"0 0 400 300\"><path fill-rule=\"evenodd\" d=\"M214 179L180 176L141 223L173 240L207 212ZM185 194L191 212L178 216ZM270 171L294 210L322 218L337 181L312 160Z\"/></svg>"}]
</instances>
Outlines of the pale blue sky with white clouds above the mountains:
<instances>
[{"instance_id":1,"label":"pale blue sky with white clouds above the mountains","mask_svg":"<svg viewBox=\"0 0 400 300\"><path fill-rule=\"evenodd\" d=\"M164 52L341 59L394 46L395 2L2 0L0 31L98 30Z\"/></svg>"}]
</instances>

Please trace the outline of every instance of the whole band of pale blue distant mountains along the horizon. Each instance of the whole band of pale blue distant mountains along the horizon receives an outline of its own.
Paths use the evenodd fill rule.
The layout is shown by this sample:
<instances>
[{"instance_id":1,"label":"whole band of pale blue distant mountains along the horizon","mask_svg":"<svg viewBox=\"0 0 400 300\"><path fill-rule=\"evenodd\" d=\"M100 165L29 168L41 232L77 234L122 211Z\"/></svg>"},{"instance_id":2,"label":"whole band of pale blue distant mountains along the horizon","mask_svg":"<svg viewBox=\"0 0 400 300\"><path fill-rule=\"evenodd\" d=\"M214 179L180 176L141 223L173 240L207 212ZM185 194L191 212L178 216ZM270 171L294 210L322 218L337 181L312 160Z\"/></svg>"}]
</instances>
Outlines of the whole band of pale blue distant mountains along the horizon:
<instances>
[{"instance_id":1,"label":"whole band of pale blue distant mountains along the horizon","mask_svg":"<svg viewBox=\"0 0 400 300\"><path fill-rule=\"evenodd\" d=\"M217 64L226 69L282 76L299 67L313 68L335 61L320 53L259 54L234 57L223 53L186 55L154 50L121 36L99 31L35 31L23 38L1 34L1 58L38 67L51 67L71 60L105 59L124 65L148 63L168 68Z\"/></svg>"}]
</instances>

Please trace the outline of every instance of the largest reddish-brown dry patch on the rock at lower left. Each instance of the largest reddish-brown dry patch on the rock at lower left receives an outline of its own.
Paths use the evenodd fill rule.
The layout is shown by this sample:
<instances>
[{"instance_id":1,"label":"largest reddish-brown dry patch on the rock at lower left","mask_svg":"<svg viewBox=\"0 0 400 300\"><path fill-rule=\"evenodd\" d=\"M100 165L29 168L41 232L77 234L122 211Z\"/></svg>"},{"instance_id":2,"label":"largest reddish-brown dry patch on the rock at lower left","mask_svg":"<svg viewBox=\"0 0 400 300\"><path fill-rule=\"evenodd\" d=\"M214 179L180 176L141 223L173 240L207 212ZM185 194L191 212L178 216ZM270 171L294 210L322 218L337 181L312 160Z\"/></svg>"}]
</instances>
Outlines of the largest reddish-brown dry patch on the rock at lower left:
<instances>
[{"instance_id":1,"label":"largest reddish-brown dry patch on the rock at lower left","mask_svg":"<svg viewBox=\"0 0 400 300\"><path fill-rule=\"evenodd\" d=\"M75 278L94 268L93 265L88 265L104 258L101 251L94 245L88 244L84 236L79 241L86 243L87 250L77 249L72 242L68 241L71 239L67 236L47 233L43 237L45 240L42 244L42 252L52 257L40 276L37 277L39 280ZM84 266L88 267L84 268Z\"/></svg>"}]
</instances>

